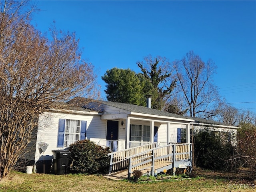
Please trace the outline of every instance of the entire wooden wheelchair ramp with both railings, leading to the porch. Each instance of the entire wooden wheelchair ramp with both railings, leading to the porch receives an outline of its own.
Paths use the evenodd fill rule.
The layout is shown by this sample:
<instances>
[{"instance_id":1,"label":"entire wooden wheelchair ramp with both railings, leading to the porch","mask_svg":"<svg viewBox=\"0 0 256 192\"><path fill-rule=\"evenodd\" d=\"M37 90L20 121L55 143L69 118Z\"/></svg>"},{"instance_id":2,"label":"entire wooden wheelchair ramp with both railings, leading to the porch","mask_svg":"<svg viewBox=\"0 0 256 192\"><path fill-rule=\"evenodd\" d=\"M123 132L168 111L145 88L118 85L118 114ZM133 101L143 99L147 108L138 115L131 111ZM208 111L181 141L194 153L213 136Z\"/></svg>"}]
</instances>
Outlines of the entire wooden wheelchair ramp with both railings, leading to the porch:
<instances>
[{"instance_id":1,"label":"entire wooden wheelchair ramp with both railings, leading to the porch","mask_svg":"<svg viewBox=\"0 0 256 192\"><path fill-rule=\"evenodd\" d=\"M155 143L108 154L110 171L104 176L113 180L131 178L133 170L144 175L158 174L164 169L191 166L192 144L168 144L157 147ZM128 169L127 169L128 168Z\"/></svg>"}]
</instances>

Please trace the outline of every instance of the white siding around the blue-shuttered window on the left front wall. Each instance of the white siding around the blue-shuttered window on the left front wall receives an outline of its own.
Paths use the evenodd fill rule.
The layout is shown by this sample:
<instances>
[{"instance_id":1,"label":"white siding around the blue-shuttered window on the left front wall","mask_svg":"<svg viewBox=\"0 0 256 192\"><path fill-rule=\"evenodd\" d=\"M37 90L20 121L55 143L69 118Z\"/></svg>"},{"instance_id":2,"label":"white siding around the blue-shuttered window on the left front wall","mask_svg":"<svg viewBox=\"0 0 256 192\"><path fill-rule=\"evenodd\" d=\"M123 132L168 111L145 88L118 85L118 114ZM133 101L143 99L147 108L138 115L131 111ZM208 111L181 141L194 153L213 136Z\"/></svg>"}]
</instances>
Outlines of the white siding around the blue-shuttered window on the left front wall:
<instances>
[{"instance_id":1,"label":"white siding around the blue-shuttered window on the left front wall","mask_svg":"<svg viewBox=\"0 0 256 192\"><path fill-rule=\"evenodd\" d=\"M80 115L80 114L61 114L53 112L44 112L39 117L35 161L43 160L38 143L46 142L49 146L44 155L45 160L52 160L52 150L61 150L65 148L57 147L58 124L59 119L73 119L87 121L86 137L106 138L106 120L100 120L100 115Z\"/></svg>"}]
</instances>

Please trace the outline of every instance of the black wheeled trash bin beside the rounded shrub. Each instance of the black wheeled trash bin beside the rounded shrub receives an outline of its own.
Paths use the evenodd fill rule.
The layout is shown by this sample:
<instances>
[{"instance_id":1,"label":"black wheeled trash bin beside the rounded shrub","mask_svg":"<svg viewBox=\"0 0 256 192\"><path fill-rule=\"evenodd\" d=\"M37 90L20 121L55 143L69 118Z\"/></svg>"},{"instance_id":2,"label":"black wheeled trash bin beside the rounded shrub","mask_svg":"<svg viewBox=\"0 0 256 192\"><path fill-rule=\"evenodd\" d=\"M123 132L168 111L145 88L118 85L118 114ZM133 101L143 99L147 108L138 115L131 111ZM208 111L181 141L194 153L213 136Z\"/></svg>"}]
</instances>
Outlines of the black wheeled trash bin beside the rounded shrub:
<instances>
[{"instance_id":1,"label":"black wheeled trash bin beside the rounded shrub","mask_svg":"<svg viewBox=\"0 0 256 192\"><path fill-rule=\"evenodd\" d=\"M52 150L53 153L53 171L56 175L68 173L68 162L71 152L68 150Z\"/></svg>"}]
</instances>

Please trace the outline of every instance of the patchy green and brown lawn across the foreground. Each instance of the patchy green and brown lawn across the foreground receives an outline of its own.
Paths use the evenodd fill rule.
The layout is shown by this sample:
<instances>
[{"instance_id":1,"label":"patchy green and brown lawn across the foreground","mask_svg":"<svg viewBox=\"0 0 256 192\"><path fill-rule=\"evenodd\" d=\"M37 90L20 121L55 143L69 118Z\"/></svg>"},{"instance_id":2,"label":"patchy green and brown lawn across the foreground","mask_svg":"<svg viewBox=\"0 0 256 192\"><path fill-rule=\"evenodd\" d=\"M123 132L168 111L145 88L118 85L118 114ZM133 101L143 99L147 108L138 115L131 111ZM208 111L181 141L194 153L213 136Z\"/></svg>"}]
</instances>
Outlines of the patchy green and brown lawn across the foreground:
<instances>
[{"instance_id":1,"label":"patchy green and brown lawn across the foreground","mask_svg":"<svg viewBox=\"0 0 256 192\"><path fill-rule=\"evenodd\" d=\"M114 181L101 175L48 175L11 172L0 181L0 192L230 192L255 189L231 189L229 184L250 184L255 180L229 177L220 172L198 172L196 178L164 179L151 182Z\"/></svg>"}]
</instances>

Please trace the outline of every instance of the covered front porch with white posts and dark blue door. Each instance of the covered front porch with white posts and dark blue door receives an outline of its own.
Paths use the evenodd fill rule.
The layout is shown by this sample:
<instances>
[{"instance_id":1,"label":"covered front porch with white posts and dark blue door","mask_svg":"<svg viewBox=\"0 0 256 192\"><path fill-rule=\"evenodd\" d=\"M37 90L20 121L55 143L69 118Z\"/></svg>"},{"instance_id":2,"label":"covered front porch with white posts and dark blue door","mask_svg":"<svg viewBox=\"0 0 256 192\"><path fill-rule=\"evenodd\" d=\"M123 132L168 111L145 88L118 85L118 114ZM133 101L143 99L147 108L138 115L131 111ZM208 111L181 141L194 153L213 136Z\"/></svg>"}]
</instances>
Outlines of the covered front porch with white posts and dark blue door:
<instances>
[{"instance_id":1,"label":"covered front porch with white posts and dark blue door","mask_svg":"<svg viewBox=\"0 0 256 192\"><path fill-rule=\"evenodd\" d=\"M177 142L189 143L190 124L135 117L107 119L105 138L90 138L90 140L100 146L109 147L111 152L154 142L157 146Z\"/></svg>"}]
</instances>

